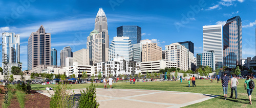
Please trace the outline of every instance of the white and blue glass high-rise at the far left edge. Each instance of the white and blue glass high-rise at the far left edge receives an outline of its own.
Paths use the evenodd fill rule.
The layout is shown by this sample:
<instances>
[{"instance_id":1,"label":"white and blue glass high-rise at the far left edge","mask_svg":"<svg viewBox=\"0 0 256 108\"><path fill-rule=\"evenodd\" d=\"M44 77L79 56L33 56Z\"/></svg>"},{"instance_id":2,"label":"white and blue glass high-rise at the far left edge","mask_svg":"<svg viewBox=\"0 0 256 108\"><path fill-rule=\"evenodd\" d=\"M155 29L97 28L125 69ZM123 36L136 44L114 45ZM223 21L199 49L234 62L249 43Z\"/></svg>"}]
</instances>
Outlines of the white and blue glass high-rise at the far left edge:
<instances>
[{"instance_id":1,"label":"white and blue glass high-rise at the far left edge","mask_svg":"<svg viewBox=\"0 0 256 108\"><path fill-rule=\"evenodd\" d=\"M5 32L3 33L2 41L3 41L3 49L2 49L3 62L18 63L19 62L19 34L15 35L15 33ZM8 59L7 61L4 61L6 57Z\"/></svg>"}]
</instances>

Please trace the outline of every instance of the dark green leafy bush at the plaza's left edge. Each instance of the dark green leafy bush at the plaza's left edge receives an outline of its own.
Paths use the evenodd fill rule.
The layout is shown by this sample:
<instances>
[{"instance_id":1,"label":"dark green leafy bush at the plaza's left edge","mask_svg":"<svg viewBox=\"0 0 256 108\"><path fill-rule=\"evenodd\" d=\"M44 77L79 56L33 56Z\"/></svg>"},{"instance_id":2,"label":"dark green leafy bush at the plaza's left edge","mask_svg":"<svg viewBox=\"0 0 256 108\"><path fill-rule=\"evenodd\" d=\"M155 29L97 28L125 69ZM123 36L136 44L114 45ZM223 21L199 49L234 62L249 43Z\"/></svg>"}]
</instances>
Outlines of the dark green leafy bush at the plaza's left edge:
<instances>
[{"instance_id":1,"label":"dark green leafy bush at the plaza's left edge","mask_svg":"<svg viewBox=\"0 0 256 108\"><path fill-rule=\"evenodd\" d=\"M91 83L89 87L84 90L80 90L81 96L78 100L78 107L99 107L99 103L96 100L96 86Z\"/></svg>"}]
</instances>

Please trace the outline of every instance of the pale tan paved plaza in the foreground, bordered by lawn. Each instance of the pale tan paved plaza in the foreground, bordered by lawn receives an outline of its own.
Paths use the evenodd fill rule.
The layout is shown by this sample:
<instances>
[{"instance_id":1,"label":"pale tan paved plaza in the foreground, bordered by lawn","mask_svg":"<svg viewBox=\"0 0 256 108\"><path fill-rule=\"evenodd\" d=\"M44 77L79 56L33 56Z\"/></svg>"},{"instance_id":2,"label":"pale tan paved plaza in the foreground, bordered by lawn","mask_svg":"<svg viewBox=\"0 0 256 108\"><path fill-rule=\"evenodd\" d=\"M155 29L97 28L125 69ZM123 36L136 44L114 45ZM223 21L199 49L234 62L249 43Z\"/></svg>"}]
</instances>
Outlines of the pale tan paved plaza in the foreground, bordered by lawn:
<instances>
[{"instance_id":1,"label":"pale tan paved plaza in the foreground, bordered by lawn","mask_svg":"<svg viewBox=\"0 0 256 108\"><path fill-rule=\"evenodd\" d=\"M80 89L73 89L75 98L79 98ZM72 91L73 91L72 90ZM82 89L86 90L86 89ZM182 107L190 104L205 101L215 95L172 92L158 90L138 90L138 89L96 89L97 101L100 107ZM49 96L47 91L37 91ZM49 91L53 94L53 91Z\"/></svg>"}]
</instances>

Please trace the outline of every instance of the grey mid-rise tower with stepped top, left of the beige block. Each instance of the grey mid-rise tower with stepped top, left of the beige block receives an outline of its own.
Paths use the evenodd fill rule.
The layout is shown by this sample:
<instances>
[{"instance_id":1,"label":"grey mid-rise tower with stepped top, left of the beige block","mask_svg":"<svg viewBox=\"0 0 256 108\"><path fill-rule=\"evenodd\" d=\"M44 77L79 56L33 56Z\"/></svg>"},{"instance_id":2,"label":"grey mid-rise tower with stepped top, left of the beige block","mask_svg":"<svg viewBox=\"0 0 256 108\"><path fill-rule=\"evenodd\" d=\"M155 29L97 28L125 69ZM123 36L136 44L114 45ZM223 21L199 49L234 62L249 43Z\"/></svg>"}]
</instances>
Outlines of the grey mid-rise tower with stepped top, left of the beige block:
<instances>
[{"instance_id":1,"label":"grey mid-rise tower with stepped top, left of the beige block","mask_svg":"<svg viewBox=\"0 0 256 108\"><path fill-rule=\"evenodd\" d=\"M73 57L73 52L70 46L66 46L60 50L60 66L67 66L66 58L68 57Z\"/></svg>"}]
</instances>

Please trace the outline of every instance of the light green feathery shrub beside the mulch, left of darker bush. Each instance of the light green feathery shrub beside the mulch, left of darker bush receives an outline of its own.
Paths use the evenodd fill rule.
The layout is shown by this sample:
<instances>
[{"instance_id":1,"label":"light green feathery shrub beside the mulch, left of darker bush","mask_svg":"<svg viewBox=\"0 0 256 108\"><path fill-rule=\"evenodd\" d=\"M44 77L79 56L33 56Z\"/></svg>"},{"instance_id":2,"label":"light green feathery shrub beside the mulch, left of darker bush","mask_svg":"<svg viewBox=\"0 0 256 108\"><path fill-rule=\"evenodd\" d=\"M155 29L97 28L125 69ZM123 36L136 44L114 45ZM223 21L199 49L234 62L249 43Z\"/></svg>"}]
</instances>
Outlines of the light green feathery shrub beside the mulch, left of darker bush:
<instances>
[{"instance_id":1,"label":"light green feathery shrub beside the mulch, left of darker bush","mask_svg":"<svg viewBox=\"0 0 256 108\"><path fill-rule=\"evenodd\" d=\"M58 84L55 88L54 94L51 95L50 107L56 108L65 108L65 107L74 107L74 95L70 93L71 90L68 85ZM74 91L73 91L74 93Z\"/></svg>"}]
</instances>

